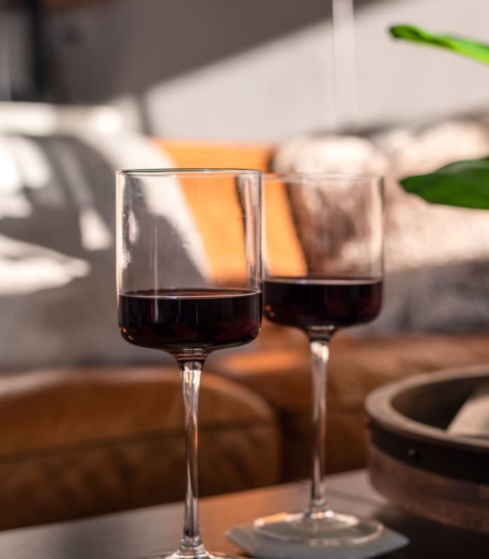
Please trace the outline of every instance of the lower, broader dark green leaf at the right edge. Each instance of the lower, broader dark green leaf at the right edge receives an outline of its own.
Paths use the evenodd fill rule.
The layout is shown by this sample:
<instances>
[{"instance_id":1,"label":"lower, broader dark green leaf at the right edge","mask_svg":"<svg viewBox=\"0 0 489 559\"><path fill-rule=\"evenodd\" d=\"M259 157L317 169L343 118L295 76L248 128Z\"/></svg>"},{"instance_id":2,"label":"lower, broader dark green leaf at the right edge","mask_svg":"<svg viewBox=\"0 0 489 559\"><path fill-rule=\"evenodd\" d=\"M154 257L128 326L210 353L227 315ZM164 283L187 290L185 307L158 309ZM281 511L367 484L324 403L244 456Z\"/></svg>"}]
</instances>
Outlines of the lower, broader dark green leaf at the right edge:
<instances>
[{"instance_id":1,"label":"lower, broader dark green leaf at the right edge","mask_svg":"<svg viewBox=\"0 0 489 559\"><path fill-rule=\"evenodd\" d=\"M455 161L434 173L406 177L401 184L431 203L489 210L489 157Z\"/></svg>"}]
</instances>

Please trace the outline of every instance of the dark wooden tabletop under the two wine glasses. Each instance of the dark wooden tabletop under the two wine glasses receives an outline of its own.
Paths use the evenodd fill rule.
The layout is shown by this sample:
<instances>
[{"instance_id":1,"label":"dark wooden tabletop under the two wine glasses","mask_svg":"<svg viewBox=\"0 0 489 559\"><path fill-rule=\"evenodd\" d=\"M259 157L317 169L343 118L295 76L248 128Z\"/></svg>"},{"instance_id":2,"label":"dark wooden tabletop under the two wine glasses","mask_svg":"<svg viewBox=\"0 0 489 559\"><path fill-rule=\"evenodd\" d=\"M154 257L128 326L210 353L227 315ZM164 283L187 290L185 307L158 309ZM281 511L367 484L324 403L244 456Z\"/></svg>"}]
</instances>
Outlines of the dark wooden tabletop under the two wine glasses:
<instances>
[{"instance_id":1,"label":"dark wooden tabletop under the two wine glasses","mask_svg":"<svg viewBox=\"0 0 489 559\"><path fill-rule=\"evenodd\" d=\"M438 525L404 514L381 498L365 472L330 476L330 504L337 509L375 516L407 535L411 544L388 559L489 558L489 536ZM307 501L305 482L205 498L200 503L202 533L207 549L239 551L224 537L233 525L256 516L301 509ZM162 549L177 548L182 504L138 509L36 528L0 532L1 559L138 559Z\"/></svg>"}]
</instances>

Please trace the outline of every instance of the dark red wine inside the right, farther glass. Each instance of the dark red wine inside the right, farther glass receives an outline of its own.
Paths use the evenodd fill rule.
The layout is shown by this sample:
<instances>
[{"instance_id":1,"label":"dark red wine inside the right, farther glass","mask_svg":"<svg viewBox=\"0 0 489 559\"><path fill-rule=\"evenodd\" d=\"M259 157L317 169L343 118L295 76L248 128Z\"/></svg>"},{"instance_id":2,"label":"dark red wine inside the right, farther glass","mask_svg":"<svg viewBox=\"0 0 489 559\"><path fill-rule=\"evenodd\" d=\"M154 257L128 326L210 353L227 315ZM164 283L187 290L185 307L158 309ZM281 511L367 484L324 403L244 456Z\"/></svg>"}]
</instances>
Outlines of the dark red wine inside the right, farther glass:
<instances>
[{"instance_id":1,"label":"dark red wine inside the right, farther glass","mask_svg":"<svg viewBox=\"0 0 489 559\"><path fill-rule=\"evenodd\" d=\"M263 284L264 314L270 321L307 330L369 322L382 305L381 279L274 277Z\"/></svg>"}]
</instances>

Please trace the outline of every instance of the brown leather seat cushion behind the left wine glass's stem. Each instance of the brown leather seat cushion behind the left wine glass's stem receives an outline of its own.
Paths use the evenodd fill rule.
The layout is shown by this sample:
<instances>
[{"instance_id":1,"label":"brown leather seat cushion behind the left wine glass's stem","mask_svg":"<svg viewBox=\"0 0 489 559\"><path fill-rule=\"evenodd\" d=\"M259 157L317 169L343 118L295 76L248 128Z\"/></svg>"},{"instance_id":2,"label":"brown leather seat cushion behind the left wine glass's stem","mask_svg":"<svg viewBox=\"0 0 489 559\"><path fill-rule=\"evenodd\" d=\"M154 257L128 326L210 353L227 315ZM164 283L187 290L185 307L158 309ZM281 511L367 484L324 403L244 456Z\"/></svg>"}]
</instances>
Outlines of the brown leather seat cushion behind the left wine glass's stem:
<instances>
[{"instance_id":1,"label":"brown leather seat cushion behind the left wine glass's stem","mask_svg":"<svg viewBox=\"0 0 489 559\"><path fill-rule=\"evenodd\" d=\"M204 372L201 494L279 481L281 433L249 389ZM0 529L181 500L176 368L16 373L0 383Z\"/></svg>"}]
</instances>

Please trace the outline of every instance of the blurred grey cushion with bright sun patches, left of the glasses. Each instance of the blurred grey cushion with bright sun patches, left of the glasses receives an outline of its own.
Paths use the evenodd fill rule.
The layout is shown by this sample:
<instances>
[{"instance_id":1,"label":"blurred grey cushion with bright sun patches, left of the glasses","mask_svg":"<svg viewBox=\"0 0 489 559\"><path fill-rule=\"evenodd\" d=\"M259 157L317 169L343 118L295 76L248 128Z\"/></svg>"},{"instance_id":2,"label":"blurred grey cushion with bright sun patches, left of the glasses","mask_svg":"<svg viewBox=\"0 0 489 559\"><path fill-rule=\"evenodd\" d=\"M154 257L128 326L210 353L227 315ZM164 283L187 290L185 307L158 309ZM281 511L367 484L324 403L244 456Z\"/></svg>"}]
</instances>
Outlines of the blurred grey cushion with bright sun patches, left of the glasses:
<instances>
[{"instance_id":1,"label":"blurred grey cushion with bright sun patches, left of the glasses","mask_svg":"<svg viewBox=\"0 0 489 559\"><path fill-rule=\"evenodd\" d=\"M114 170L168 156L130 133L10 133L0 161L0 371L170 362L122 340L115 295Z\"/></svg>"}]
</instances>

